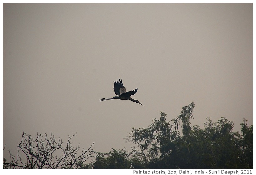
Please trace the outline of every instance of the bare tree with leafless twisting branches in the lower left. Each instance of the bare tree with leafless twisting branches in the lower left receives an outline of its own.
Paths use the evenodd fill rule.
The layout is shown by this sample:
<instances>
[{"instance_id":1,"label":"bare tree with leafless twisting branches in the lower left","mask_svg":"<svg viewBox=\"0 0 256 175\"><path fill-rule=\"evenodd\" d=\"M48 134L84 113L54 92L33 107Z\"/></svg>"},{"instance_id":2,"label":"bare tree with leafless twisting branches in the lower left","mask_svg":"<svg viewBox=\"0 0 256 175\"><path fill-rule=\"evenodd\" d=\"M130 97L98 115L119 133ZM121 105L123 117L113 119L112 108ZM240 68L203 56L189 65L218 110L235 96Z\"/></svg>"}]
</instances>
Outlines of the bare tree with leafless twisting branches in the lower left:
<instances>
[{"instance_id":1,"label":"bare tree with leafless twisting branches in the lower left","mask_svg":"<svg viewBox=\"0 0 256 175\"><path fill-rule=\"evenodd\" d=\"M92 158L93 144L88 149L82 149L81 155L77 154L80 146L72 147L71 137L68 136L66 146L62 147L62 140L47 134L38 134L36 139L23 131L22 139L18 145L16 155L12 155L10 150L11 161L3 162L4 167L9 168L84 168L83 164L87 159ZM23 153L23 154L21 154ZM62 156L57 156L57 154ZM25 158L24 158L25 157ZM24 158L24 160L23 160Z\"/></svg>"}]
</instances>

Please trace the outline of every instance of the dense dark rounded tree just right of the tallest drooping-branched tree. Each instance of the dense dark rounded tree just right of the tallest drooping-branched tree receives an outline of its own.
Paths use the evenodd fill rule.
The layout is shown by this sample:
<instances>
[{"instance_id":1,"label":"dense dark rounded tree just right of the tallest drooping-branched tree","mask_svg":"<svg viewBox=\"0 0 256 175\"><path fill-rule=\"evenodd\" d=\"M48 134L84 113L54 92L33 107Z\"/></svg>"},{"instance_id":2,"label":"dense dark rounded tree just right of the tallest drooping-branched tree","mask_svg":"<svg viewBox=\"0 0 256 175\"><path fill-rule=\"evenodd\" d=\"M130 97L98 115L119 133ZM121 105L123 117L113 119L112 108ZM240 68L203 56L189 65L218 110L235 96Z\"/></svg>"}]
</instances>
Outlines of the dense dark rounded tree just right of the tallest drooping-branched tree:
<instances>
[{"instance_id":1,"label":"dense dark rounded tree just right of the tallest drooping-branched tree","mask_svg":"<svg viewBox=\"0 0 256 175\"><path fill-rule=\"evenodd\" d=\"M231 132L233 124L224 117L217 123L208 118L204 130L192 127L189 135L177 140L179 151L171 159L179 168L241 168L236 144L240 136Z\"/></svg>"}]
</instances>

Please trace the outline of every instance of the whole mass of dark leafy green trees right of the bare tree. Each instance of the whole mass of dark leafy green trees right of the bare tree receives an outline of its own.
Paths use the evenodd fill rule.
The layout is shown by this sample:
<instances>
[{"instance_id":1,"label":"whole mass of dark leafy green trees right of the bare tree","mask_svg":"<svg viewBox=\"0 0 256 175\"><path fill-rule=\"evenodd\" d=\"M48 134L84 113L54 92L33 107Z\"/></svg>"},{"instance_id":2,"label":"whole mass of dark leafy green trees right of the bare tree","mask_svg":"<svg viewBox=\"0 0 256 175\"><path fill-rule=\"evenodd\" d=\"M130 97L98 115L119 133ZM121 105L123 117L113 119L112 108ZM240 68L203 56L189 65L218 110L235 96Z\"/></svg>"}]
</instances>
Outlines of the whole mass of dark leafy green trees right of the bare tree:
<instances>
[{"instance_id":1,"label":"whole mass of dark leafy green trees right of the bare tree","mask_svg":"<svg viewBox=\"0 0 256 175\"><path fill-rule=\"evenodd\" d=\"M194 107L193 102L184 106L171 122L162 111L160 119L154 119L147 128L132 128L126 137L136 145L132 151L98 153L94 168L253 168L253 126L248 127L244 119L241 135L232 132L233 121L221 117L216 123L206 118L204 129L191 127ZM126 166L114 165L118 160Z\"/></svg>"}]
</instances>

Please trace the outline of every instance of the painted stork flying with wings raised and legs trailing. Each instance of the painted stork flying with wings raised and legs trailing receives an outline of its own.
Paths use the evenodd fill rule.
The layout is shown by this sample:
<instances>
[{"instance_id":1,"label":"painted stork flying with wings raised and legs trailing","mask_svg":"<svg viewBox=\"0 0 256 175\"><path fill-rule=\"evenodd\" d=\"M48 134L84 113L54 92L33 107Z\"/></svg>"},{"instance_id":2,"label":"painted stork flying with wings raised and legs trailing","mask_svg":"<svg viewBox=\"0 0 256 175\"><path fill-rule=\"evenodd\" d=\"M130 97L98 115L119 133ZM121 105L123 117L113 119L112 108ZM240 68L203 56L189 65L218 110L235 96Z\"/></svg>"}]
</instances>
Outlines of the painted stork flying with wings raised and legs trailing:
<instances>
[{"instance_id":1,"label":"painted stork flying with wings raised and legs trailing","mask_svg":"<svg viewBox=\"0 0 256 175\"><path fill-rule=\"evenodd\" d=\"M120 99L120 100L130 100L130 101L133 101L136 103L140 103L138 100L134 100L131 98L131 95L134 95L135 93L137 93L137 91L138 91L138 89L126 92L126 89L123 85L122 79L121 80L119 79L119 81L118 80L114 81L114 92L118 96L115 96L113 98L101 98L100 101L111 100L111 99ZM141 105L143 106L143 104L141 104Z\"/></svg>"}]
</instances>

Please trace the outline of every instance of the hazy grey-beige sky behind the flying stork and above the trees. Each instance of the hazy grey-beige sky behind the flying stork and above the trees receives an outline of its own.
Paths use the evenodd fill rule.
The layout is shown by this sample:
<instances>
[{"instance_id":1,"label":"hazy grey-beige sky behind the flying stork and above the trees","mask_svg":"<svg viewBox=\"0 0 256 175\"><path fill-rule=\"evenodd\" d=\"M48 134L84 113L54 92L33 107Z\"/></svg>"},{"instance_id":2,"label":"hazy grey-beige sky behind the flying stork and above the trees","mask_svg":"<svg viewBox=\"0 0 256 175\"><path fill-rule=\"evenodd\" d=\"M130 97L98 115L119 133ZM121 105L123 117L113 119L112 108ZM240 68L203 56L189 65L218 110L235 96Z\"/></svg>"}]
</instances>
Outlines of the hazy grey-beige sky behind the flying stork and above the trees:
<instances>
[{"instance_id":1,"label":"hazy grey-beige sky behind the flying stork and above the trees","mask_svg":"<svg viewBox=\"0 0 256 175\"><path fill-rule=\"evenodd\" d=\"M144 106L115 96L113 82ZM252 4L4 4L3 145L22 130L73 146L128 150L133 127L196 104L206 118L253 123ZM65 143L66 144L66 143Z\"/></svg>"}]
</instances>

